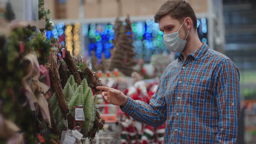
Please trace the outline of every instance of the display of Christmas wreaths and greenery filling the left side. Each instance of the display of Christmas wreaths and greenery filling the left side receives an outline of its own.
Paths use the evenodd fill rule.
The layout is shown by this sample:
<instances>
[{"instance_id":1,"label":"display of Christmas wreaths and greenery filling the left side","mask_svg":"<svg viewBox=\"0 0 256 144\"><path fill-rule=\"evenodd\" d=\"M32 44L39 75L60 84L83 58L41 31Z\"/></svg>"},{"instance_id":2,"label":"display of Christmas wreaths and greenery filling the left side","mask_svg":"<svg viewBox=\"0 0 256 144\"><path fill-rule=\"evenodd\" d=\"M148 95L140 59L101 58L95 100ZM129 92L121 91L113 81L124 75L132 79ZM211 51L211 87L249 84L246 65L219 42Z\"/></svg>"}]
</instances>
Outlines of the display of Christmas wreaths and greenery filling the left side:
<instances>
[{"instance_id":1,"label":"display of Christmas wreaths and greenery filling the left side","mask_svg":"<svg viewBox=\"0 0 256 144\"><path fill-rule=\"evenodd\" d=\"M43 33L24 23L0 25L7 29L0 35L0 143L85 143L104 124L93 94L100 79L79 56L45 38L52 23L49 11L39 10Z\"/></svg>"}]
</instances>

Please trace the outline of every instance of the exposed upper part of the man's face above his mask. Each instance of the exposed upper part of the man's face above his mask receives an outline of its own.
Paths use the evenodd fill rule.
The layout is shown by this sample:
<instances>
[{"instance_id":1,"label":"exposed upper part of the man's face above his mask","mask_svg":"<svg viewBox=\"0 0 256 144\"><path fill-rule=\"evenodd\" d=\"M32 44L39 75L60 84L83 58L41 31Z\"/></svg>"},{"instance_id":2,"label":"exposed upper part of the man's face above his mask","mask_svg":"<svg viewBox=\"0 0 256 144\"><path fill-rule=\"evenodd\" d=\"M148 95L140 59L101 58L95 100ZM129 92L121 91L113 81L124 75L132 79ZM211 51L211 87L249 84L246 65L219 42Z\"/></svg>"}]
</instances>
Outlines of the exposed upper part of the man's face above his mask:
<instances>
[{"instance_id":1,"label":"exposed upper part of the man's face above his mask","mask_svg":"<svg viewBox=\"0 0 256 144\"><path fill-rule=\"evenodd\" d=\"M177 19L173 19L170 15L165 15L159 20L159 28L160 31L164 32L164 34L174 33L179 30L179 28L182 26L182 23L179 22ZM179 37L181 39L185 39L187 36L184 31L185 23L181 30L179 30Z\"/></svg>"}]
</instances>

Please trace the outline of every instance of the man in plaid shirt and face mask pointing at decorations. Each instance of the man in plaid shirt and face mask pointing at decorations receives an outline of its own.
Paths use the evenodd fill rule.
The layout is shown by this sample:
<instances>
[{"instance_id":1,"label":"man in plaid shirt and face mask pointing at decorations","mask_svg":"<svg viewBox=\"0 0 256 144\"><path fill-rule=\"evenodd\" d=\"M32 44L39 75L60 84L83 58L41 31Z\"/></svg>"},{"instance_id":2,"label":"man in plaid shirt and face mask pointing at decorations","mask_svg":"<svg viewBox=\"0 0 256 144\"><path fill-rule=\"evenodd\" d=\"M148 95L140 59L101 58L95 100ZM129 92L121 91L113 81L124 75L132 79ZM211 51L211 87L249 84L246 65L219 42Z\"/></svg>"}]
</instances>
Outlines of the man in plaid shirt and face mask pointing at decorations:
<instances>
[{"instance_id":1,"label":"man in plaid shirt and face mask pointing at decorations","mask_svg":"<svg viewBox=\"0 0 256 144\"><path fill-rule=\"evenodd\" d=\"M165 2L154 18L166 47L181 55L165 69L150 104L97 87L104 91L102 97L139 122L153 127L166 122L165 143L236 143L238 69L228 57L200 42L196 16L187 1Z\"/></svg>"}]
</instances>

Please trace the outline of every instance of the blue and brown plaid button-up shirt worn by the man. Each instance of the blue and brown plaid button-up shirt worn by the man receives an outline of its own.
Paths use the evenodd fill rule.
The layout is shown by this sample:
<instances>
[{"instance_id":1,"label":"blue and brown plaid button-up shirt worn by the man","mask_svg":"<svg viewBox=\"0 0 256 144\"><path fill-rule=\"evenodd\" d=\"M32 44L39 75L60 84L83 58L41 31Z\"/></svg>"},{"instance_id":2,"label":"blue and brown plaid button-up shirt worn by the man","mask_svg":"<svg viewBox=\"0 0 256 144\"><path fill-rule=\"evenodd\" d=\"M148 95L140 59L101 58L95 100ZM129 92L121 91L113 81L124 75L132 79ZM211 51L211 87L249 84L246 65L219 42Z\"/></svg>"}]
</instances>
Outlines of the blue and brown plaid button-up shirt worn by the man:
<instances>
[{"instance_id":1,"label":"blue and brown plaid button-up shirt worn by the man","mask_svg":"<svg viewBox=\"0 0 256 144\"><path fill-rule=\"evenodd\" d=\"M120 106L153 127L166 122L164 143L236 143L240 76L235 64L207 44L169 64L146 104Z\"/></svg>"}]
</instances>

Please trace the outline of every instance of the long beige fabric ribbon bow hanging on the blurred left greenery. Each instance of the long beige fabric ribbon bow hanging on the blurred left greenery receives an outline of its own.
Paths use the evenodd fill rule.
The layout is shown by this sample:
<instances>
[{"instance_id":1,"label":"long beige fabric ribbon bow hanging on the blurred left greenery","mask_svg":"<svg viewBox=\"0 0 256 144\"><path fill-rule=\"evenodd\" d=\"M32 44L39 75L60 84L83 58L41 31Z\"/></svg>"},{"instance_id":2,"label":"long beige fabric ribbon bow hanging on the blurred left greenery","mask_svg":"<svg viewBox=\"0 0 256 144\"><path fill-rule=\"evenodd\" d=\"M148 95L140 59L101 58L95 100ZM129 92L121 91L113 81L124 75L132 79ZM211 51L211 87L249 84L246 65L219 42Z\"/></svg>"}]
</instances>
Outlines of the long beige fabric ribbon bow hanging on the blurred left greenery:
<instances>
[{"instance_id":1,"label":"long beige fabric ribbon bow hanging on the blurred left greenery","mask_svg":"<svg viewBox=\"0 0 256 144\"><path fill-rule=\"evenodd\" d=\"M36 53L29 53L24 58L22 58L22 61L30 62L25 70L25 76L21 79L21 83L25 89L25 95L28 99L31 110L36 110L34 103L38 103L43 118L47 119L49 127L51 128L48 103L46 99L42 96L42 94L48 92L49 87L38 80L40 77L40 69ZM35 95L35 93L37 93L38 95Z\"/></svg>"}]
</instances>

